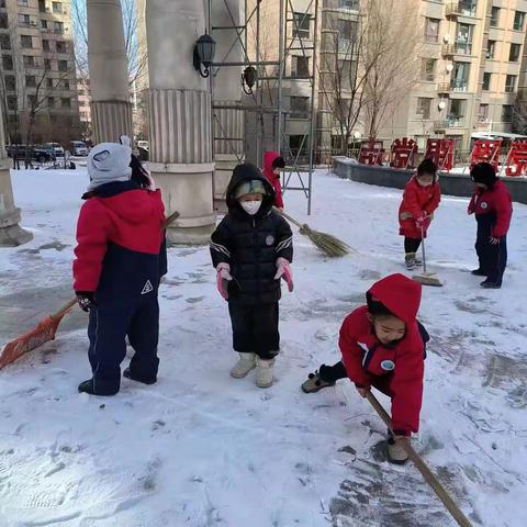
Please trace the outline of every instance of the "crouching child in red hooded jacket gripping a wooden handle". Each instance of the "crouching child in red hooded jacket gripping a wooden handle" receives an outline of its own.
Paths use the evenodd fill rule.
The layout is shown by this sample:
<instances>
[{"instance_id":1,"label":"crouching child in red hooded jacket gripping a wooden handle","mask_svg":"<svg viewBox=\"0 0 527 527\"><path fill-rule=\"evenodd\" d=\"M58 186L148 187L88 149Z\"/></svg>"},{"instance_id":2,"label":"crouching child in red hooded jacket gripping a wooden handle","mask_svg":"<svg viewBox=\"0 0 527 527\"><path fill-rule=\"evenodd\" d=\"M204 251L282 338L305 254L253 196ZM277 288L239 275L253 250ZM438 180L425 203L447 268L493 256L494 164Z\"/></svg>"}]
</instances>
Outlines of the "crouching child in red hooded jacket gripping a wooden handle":
<instances>
[{"instance_id":1,"label":"crouching child in red hooded jacket gripping a wooden handle","mask_svg":"<svg viewBox=\"0 0 527 527\"><path fill-rule=\"evenodd\" d=\"M343 360L310 373L302 390L317 392L348 377L362 397L371 386L390 396L394 436L388 440L388 459L404 463L407 455L401 441L408 441L419 427L429 340L416 319L421 284L403 274L391 274L374 283L366 299L367 305L348 315L340 328Z\"/></svg>"}]
</instances>

